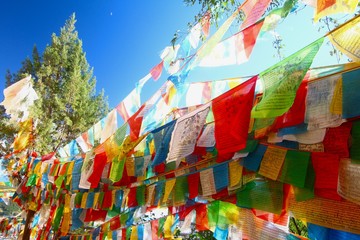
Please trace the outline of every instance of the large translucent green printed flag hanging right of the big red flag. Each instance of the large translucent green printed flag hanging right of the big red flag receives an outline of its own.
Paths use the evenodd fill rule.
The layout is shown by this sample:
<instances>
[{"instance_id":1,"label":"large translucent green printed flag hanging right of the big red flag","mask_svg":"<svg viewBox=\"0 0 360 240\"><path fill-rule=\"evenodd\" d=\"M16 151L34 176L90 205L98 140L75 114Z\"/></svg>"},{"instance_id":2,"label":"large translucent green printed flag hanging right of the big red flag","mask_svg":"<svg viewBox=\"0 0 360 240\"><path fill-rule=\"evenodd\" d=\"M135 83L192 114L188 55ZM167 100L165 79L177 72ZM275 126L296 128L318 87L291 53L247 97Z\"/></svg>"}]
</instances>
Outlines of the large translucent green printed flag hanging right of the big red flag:
<instances>
[{"instance_id":1,"label":"large translucent green printed flag hanging right of the big red flag","mask_svg":"<svg viewBox=\"0 0 360 240\"><path fill-rule=\"evenodd\" d=\"M324 38L285 58L260 73L264 86L260 102L252 109L253 118L273 118L286 113Z\"/></svg>"}]
</instances>

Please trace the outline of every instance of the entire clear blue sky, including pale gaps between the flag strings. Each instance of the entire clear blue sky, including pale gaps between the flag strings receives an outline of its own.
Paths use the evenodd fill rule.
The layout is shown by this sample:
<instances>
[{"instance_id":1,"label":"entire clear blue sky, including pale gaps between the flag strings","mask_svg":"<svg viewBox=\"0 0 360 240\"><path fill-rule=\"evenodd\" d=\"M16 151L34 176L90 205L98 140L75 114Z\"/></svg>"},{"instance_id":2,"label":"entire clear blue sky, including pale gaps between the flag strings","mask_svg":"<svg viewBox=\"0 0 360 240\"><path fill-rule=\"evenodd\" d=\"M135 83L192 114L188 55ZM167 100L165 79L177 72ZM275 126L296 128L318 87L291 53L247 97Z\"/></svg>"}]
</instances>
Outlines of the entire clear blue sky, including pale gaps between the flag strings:
<instances>
[{"instance_id":1,"label":"entire clear blue sky, including pale gaps between the flag strings","mask_svg":"<svg viewBox=\"0 0 360 240\"><path fill-rule=\"evenodd\" d=\"M160 62L159 54L176 30L185 32L199 7L187 7L182 0L16 0L3 1L0 8L0 89L6 69L16 72L34 44L42 53L59 34L65 20L75 12L76 28L83 41L87 60L94 67L97 89L104 89L110 107L115 107ZM312 23L313 8L291 14L277 29L285 44L284 55L311 43L324 32ZM235 28L232 28L235 33ZM252 75L275 64L273 37L266 33L257 42L250 61L240 66L195 69L189 80L203 81ZM316 65L335 64L326 46ZM145 91L152 94L165 77L149 82ZM149 95L149 96L150 96ZM0 101L3 99L1 94Z\"/></svg>"}]
</instances>

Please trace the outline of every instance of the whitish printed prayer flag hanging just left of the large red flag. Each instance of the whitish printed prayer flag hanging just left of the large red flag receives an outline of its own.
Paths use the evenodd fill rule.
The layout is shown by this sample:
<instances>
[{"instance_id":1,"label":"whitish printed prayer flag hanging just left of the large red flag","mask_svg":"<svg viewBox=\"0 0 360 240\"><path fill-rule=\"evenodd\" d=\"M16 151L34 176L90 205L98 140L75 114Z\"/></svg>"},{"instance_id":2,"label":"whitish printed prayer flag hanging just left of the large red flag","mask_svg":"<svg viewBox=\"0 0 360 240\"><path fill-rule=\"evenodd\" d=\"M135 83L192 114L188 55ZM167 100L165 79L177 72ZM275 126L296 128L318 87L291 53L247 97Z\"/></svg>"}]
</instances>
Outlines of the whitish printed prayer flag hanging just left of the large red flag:
<instances>
[{"instance_id":1,"label":"whitish printed prayer flag hanging just left of the large red flag","mask_svg":"<svg viewBox=\"0 0 360 240\"><path fill-rule=\"evenodd\" d=\"M210 103L177 119L166 163L176 161L176 166L178 166L182 158L194 151L196 140L203 129L209 110Z\"/></svg>"}]
</instances>

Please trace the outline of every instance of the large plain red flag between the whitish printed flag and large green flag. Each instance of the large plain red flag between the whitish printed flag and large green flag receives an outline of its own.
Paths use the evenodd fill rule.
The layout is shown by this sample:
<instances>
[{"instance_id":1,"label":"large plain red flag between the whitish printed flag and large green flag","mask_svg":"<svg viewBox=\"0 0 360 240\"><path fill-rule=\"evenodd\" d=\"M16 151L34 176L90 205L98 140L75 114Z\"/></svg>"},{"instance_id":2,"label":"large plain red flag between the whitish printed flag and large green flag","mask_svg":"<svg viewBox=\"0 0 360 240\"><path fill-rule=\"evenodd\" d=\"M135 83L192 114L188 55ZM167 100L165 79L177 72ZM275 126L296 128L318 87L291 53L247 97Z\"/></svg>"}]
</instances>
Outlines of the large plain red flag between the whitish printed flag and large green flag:
<instances>
[{"instance_id":1,"label":"large plain red flag between the whitish printed flag and large green flag","mask_svg":"<svg viewBox=\"0 0 360 240\"><path fill-rule=\"evenodd\" d=\"M257 76L212 101L219 155L246 147Z\"/></svg>"}]
</instances>

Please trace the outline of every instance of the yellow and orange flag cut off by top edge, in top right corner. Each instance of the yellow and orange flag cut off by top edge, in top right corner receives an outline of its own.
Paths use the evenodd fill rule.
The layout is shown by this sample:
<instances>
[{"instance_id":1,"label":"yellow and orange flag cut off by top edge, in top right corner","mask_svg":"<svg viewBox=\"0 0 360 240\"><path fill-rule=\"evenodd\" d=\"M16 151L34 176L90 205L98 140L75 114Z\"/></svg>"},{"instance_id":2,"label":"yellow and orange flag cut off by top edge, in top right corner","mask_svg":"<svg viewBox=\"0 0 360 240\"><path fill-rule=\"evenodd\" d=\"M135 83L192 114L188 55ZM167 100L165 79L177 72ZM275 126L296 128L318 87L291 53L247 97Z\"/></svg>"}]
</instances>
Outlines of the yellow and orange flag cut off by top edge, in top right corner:
<instances>
[{"instance_id":1,"label":"yellow and orange flag cut off by top edge, in top right corner","mask_svg":"<svg viewBox=\"0 0 360 240\"><path fill-rule=\"evenodd\" d=\"M357 0L318 0L316 1L316 10L314 15L314 22L319 21L320 18L337 13L353 13L358 4Z\"/></svg>"}]
</instances>

